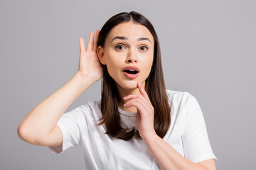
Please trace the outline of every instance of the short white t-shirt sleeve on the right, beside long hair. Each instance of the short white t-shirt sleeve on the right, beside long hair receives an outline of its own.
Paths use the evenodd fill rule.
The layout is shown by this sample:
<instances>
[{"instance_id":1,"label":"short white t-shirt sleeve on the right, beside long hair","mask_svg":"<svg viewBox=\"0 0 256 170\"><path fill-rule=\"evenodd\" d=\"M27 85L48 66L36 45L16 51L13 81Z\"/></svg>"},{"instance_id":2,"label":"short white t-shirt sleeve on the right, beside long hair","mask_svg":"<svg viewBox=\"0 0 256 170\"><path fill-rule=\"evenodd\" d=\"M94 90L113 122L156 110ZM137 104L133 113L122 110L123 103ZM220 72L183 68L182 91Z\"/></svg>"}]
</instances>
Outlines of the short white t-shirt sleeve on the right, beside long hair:
<instances>
[{"instance_id":1,"label":"short white t-shirt sleeve on the right, beside long hair","mask_svg":"<svg viewBox=\"0 0 256 170\"><path fill-rule=\"evenodd\" d=\"M210 146L206 123L198 101L194 96L185 92L184 107L186 109L186 129L182 136L184 157L192 162L215 159Z\"/></svg>"}]
</instances>

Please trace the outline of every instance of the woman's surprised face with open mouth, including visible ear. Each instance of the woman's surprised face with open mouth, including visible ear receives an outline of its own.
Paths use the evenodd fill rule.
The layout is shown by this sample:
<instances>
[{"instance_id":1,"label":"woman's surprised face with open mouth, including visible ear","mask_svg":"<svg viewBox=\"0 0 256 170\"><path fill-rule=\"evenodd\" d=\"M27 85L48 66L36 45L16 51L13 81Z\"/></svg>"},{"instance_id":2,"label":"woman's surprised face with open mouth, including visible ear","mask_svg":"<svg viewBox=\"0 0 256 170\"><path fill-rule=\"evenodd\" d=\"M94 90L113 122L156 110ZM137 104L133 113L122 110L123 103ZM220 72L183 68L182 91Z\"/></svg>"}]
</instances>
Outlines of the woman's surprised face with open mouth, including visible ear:
<instances>
[{"instance_id":1,"label":"woman's surprised face with open mouth, including visible ear","mask_svg":"<svg viewBox=\"0 0 256 170\"><path fill-rule=\"evenodd\" d=\"M100 62L118 88L133 90L140 81L145 86L154 59L154 38L138 23L125 22L112 28L105 46L99 47Z\"/></svg>"}]
</instances>

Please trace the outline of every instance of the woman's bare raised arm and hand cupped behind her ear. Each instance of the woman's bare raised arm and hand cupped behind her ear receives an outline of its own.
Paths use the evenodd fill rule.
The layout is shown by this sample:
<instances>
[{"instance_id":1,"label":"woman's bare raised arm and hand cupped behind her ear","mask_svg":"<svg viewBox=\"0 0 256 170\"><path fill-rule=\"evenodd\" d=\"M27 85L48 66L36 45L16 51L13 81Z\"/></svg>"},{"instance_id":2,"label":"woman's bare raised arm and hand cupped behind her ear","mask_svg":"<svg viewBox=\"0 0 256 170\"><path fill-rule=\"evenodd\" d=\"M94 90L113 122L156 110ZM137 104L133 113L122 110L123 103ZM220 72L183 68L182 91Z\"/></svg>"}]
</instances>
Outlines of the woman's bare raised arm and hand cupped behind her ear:
<instances>
[{"instance_id":1,"label":"woman's bare raised arm and hand cupped behind her ear","mask_svg":"<svg viewBox=\"0 0 256 170\"><path fill-rule=\"evenodd\" d=\"M80 38L80 59L78 72L60 89L48 96L36 108L26 115L18 125L18 136L33 145L55 145L62 143L62 134L57 128L58 120L65 110L95 81L102 77L102 67L97 58L96 46L99 30L90 34L90 40L85 45ZM59 141L50 141L58 136ZM61 140L61 141L60 141Z\"/></svg>"}]
</instances>

